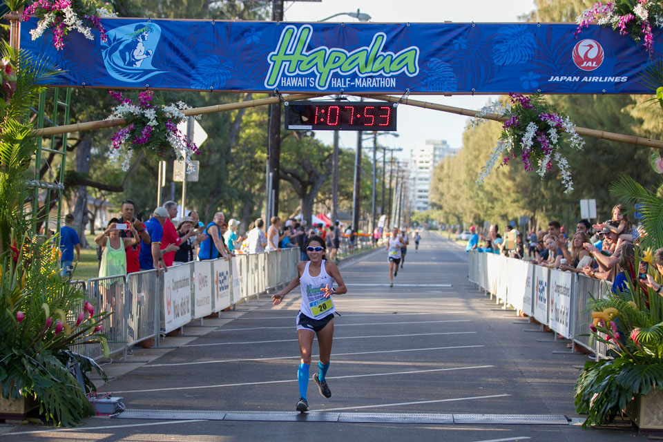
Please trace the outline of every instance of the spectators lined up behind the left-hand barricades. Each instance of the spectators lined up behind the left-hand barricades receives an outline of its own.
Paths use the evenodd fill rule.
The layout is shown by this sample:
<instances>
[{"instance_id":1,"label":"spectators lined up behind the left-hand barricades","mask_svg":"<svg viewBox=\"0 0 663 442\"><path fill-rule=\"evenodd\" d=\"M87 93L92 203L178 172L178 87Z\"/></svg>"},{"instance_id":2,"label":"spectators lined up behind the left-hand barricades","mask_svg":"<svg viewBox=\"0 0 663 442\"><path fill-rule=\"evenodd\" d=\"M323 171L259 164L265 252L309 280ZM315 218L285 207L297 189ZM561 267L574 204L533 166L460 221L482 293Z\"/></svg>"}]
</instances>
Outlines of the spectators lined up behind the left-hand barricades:
<instances>
[{"instance_id":1,"label":"spectators lined up behind the left-hand barricades","mask_svg":"<svg viewBox=\"0 0 663 442\"><path fill-rule=\"evenodd\" d=\"M251 222L245 233L240 233L240 221L234 218L226 222L223 212L217 212L208 224L200 221L197 211L178 216L174 201L166 201L156 207L146 219L135 213L132 200L124 200L115 218L108 221L106 229L95 238L99 278L127 275L138 271L164 269L195 260L230 260L242 253L262 253L300 247L301 259L308 260L305 244L309 237L320 236L327 245L328 258L338 261L341 244L350 253L357 244L357 233L347 227L345 234L338 221L332 226L314 224L307 228L305 221L295 219L283 223L274 216L265 221L258 218ZM61 227L60 249L63 276L73 270L74 252L80 256L80 240L73 228L73 215L67 215Z\"/></svg>"}]
</instances>

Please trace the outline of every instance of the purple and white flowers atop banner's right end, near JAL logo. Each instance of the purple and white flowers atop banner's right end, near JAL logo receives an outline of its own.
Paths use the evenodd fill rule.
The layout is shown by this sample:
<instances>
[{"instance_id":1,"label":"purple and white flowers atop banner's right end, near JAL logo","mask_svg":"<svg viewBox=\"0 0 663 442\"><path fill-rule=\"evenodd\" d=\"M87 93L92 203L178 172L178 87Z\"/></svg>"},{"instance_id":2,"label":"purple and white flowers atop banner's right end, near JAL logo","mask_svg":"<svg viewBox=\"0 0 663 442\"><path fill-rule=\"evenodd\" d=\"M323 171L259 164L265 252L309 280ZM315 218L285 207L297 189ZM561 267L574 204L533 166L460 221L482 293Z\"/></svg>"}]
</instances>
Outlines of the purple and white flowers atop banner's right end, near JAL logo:
<instances>
[{"instance_id":1,"label":"purple and white flowers atop banner's right end, near JAL logo","mask_svg":"<svg viewBox=\"0 0 663 442\"><path fill-rule=\"evenodd\" d=\"M644 48L651 54L654 46L652 28L663 26L663 6L660 1L598 1L576 17L577 37L590 23L611 26L620 35L630 35L635 41L643 40Z\"/></svg>"}]
</instances>

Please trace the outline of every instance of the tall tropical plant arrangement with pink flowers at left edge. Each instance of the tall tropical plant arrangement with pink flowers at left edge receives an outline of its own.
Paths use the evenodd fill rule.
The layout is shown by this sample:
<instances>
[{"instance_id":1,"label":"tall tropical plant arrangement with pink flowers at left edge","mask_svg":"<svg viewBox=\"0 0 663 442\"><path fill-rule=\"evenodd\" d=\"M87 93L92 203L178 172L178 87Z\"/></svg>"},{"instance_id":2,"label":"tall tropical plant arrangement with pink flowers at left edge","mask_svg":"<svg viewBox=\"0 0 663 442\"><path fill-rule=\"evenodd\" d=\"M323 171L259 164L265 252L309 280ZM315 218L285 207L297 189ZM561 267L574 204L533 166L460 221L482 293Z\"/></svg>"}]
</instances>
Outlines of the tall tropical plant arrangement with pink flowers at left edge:
<instances>
[{"instance_id":1,"label":"tall tropical plant arrangement with pink flowers at left edge","mask_svg":"<svg viewBox=\"0 0 663 442\"><path fill-rule=\"evenodd\" d=\"M26 166L37 146L27 116L43 90L37 82L50 73L23 52L8 46L1 52L15 84L0 106L0 392L9 403L36 401L57 425L75 425L94 413L87 373L105 374L73 349L102 345L107 352L102 321L108 314L95 314L84 293L60 276L57 236L37 236L36 219L24 209ZM72 363L79 364L83 385L70 372Z\"/></svg>"}]
</instances>

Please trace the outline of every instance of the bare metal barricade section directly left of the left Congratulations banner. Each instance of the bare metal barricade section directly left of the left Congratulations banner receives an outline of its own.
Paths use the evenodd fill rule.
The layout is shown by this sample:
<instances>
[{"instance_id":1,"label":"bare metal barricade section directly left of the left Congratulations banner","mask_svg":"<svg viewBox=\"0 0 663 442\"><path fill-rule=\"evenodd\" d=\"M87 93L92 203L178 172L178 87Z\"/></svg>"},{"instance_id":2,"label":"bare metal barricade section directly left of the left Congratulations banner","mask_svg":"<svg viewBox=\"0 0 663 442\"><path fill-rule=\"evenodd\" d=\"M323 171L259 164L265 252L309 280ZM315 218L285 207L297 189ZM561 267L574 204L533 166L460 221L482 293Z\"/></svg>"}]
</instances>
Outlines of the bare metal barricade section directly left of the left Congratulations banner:
<instances>
[{"instance_id":1,"label":"bare metal barricade section directly left of the left Congratulations banner","mask_svg":"<svg viewBox=\"0 0 663 442\"><path fill-rule=\"evenodd\" d=\"M129 273L126 280L126 345L159 335L160 278L156 270Z\"/></svg>"}]
</instances>

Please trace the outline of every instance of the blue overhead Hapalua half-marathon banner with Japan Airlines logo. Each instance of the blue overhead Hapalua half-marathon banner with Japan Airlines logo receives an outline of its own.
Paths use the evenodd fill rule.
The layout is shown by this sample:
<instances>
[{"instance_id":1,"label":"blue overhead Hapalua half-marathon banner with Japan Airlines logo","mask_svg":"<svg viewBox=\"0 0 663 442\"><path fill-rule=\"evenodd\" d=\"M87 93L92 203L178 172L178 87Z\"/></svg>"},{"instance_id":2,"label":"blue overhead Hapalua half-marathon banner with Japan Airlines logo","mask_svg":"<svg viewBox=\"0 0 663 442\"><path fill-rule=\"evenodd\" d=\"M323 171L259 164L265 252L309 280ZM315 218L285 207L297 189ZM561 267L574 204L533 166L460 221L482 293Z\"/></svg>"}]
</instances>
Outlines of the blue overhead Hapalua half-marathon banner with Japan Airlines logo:
<instances>
[{"instance_id":1,"label":"blue overhead Hapalua half-marathon banner with Japan Airlines logo","mask_svg":"<svg viewBox=\"0 0 663 442\"><path fill-rule=\"evenodd\" d=\"M21 47L59 75L44 84L281 93L652 93L640 75L654 49L592 25L550 23L284 23L102 19L108 39L51 31Z\"/></svg>"}]
</instances>

